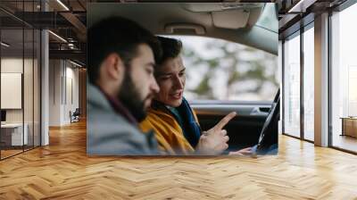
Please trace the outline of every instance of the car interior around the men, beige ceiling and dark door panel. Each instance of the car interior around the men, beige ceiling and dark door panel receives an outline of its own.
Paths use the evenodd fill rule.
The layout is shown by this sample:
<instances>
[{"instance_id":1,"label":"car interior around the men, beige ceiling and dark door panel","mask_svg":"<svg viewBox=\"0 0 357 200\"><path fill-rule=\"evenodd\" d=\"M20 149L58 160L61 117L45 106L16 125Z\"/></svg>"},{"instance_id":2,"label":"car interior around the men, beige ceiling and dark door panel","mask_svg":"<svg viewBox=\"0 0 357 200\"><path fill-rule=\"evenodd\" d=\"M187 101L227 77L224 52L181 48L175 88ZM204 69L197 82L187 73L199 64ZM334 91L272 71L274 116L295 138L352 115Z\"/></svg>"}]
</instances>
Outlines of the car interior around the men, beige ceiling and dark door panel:
<instances>
[{"instance_id":1,"label":"car interior around the men, beige ceiling and dark door panel","mask_svg":"<svg viewBox=\"0 0 357 200\"><path fill-rule=\"evenodd\" d=\"M94 5L87 8L90 13L87 15L88 27L105 17L117 15L137 21L156 35L220 38L278 55L278 14L274 4ZM229 137L227 151L256 146L260 142L258 152L264 153L267 146L278 143L278 121L268 119L267 122L272 112L278 112L278 109L274 109L278 105L272 107L277 102L277 99L275 102L200 100L190 104L197 113L202 129L211 129L229 112L237 112L237 117L225 127ZM276 124L270 124L271 121ZM276 136L272 136L274 134Z\"/></svg>"}]
</instances>

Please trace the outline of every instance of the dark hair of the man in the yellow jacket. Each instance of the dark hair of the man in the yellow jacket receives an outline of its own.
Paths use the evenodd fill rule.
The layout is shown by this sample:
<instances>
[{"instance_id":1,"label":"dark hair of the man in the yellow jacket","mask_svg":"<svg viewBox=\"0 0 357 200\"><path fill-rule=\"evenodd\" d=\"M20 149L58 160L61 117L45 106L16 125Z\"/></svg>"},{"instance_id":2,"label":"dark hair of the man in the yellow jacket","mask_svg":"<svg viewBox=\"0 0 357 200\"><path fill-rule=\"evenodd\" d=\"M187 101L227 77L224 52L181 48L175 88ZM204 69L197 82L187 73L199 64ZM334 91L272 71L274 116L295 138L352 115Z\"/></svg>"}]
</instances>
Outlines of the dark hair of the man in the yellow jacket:
<instances>
[{"instance_id":1,"label":"dark hair of the man in the yellow jacket","mask_svg":"<svg viewBox=\"0 0 357 200\"><path fill-rule=\"evenodd\" d=\"M158 65L164 63L168 58L176 58L179 56L182 49L182 42L179 39L161 36L158 36L157 38L162 45L162 56L157 62Z\"/></svg>"}]
</instances>

